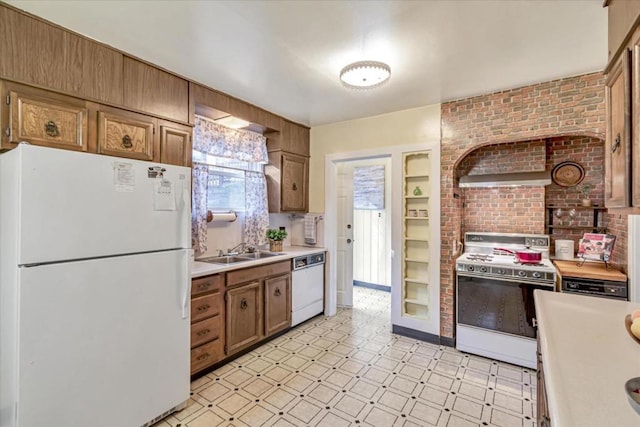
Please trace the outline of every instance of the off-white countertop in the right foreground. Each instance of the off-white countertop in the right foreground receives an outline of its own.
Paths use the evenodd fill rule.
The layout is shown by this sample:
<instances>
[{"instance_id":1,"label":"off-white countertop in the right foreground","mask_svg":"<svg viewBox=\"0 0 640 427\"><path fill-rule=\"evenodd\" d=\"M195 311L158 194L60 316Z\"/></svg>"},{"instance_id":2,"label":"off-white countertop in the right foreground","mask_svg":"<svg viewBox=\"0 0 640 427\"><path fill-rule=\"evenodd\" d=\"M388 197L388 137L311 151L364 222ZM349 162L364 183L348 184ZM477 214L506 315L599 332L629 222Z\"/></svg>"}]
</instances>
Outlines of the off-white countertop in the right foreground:
<instances>
[{"instance_id":1,"label":"off-white countertop in the right foreground","mask_svg":"<svg viewBox=\"0 0 640 427\"><path fill-rule=\"evenodd\" d=\"M640 377L640 345L624 318L640 304L535 291L552 425L638 427L624 383Z\"/></svg>"}]
</instances>

